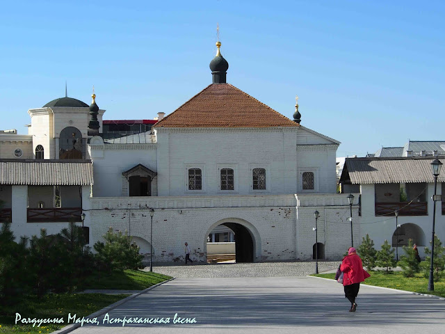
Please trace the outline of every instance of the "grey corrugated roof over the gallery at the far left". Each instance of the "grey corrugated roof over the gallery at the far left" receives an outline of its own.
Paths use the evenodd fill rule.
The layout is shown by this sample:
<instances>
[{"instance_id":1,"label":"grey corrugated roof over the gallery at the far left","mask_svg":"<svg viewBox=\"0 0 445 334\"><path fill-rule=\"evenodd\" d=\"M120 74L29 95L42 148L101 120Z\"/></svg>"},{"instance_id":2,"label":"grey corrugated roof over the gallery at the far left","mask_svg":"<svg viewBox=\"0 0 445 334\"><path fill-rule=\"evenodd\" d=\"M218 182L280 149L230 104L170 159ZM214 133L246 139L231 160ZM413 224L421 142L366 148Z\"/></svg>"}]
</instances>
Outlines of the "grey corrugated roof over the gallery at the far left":
<instances>
[{"instance_id":1,"label":"grey corrugated roof over the gallery at the far left","mask_svg":"<svg viewBox=\"0 0 445 334\"><path fill-rule=\"evenodd\" d=\"M90 160L0 159L0 184L29 186L89 186Z\"/></svg>"}]
</instances>

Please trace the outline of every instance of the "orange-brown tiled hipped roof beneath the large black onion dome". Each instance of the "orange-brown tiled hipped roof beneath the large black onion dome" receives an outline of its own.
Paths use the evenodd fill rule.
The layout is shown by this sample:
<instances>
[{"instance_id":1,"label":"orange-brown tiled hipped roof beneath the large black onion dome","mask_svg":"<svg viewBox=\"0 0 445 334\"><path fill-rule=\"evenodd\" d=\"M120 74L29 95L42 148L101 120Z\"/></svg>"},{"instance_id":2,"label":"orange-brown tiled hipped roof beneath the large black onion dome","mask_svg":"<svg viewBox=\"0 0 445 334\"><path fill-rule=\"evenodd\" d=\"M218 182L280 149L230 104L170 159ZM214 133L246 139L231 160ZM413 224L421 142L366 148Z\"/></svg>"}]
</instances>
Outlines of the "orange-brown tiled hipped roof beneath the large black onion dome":
<instances>
[{"instance_id":1,"label":"orange-brown tiled hipped roof beneath the large black onion dome","mask_svg":"<svg viewBox=\"0 0 445 334\"><path fill-rule=\"evenodd\" d=\"M231 84L211 84L154 127L299 127Z\"/></svg>"}]
</instances>

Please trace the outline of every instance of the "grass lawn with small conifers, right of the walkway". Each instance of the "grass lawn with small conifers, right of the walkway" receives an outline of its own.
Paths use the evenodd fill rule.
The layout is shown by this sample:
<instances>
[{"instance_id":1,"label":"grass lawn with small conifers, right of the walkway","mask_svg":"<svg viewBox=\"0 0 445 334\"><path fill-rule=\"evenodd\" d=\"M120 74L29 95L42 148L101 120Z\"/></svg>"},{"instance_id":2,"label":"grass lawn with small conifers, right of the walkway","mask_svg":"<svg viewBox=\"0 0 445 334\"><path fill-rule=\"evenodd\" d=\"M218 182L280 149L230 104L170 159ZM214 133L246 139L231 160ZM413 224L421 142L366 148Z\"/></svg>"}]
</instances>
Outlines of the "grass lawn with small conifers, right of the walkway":
<instances>
[{"instance_id":1,"label":"grass lawn with small conifers, right of the walkway","mask_svg":"<svg viewBox=\"0 0 445 334\"><path fill-rule=\"evenodd\" d=\"M371 271L370 274L371 277L366 278L364 282L367 285L390 287L391 289L419 292L421 294L435 294L445 297L445 280L435 282L434 291L428 291L428 278L424 278L422 273L417 273L416 276L411 278L403 276L400 271L389 274L381 271ZM313 276L334 279L335 273L320 273Z\"/></svg>"}]
</instances>

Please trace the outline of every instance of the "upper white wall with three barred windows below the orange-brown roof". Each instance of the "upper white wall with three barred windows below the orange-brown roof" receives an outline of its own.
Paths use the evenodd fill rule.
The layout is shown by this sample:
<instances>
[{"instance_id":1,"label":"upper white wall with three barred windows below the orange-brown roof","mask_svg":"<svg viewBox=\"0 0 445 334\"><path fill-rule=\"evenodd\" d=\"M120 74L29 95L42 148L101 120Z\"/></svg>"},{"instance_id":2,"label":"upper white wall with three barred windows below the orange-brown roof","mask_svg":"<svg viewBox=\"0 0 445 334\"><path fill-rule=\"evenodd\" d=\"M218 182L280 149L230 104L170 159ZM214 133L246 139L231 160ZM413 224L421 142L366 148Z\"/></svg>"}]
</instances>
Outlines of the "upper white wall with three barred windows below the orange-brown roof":
<instances>
[{"instance_id":1,"label":"upper white wall with three barred windows below the orange-brown roof","mask_svg":"<svg viewBox=\"0 0 445 334\"><path fill-rule=\"evenodd\" d=\"M296 193L296 132L288 129L202 129L157 132L159 196L194 196L186 169L202 168L207 195L249 194L252 167L266 169L264 193ZM218 167L236 170L235 191L220 191ZM224 167L225 167L224 166Z\"/></svg>"}]
</instances>

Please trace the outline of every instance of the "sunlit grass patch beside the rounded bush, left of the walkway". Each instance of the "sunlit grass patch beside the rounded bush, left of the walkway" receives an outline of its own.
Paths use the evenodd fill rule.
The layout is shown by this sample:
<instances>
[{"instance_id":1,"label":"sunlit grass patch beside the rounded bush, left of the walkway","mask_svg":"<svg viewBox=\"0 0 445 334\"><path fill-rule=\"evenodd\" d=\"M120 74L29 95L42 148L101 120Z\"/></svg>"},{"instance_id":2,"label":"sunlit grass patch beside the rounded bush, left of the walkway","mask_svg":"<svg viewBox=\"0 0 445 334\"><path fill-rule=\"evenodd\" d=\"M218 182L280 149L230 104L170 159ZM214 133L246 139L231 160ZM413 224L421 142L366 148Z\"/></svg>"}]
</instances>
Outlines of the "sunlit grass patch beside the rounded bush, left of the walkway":
<instances>
[{"instance_id":1,"label":"sunlit grass patch beside the rounded bush, left of the walkway","mask_svg":"<svg viewBox=\"0 0 445 334\"><path fill-rule=\"evenodd\" d=\"M95 274L86 280L85 289L143 290L152 285L170 280L170 276L140 270L125 270L110 275Z\"/></svg>"}]
</instances>

